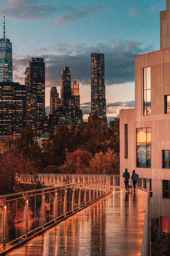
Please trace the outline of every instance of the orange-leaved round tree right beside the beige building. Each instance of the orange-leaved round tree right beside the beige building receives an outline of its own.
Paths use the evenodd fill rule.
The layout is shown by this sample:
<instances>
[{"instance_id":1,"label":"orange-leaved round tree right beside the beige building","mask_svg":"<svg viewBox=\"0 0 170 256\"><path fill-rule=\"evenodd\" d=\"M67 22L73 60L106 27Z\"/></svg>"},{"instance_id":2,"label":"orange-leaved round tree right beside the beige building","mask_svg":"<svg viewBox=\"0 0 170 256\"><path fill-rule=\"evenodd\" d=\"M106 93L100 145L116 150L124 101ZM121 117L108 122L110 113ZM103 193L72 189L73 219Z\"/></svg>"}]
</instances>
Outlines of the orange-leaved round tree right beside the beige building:
<instances>
[{"instance_id":1,"label":"orange-leaved round tree right beside the beige building","mask_svg":"<svg viewBox=\"0 0 170 256\"><path fill-rule=\"evenodd\" d=\"M110 149L105 153L96 153L86 171L89 174L118 174L119 156Z\"/></svg>"}]
</instances>

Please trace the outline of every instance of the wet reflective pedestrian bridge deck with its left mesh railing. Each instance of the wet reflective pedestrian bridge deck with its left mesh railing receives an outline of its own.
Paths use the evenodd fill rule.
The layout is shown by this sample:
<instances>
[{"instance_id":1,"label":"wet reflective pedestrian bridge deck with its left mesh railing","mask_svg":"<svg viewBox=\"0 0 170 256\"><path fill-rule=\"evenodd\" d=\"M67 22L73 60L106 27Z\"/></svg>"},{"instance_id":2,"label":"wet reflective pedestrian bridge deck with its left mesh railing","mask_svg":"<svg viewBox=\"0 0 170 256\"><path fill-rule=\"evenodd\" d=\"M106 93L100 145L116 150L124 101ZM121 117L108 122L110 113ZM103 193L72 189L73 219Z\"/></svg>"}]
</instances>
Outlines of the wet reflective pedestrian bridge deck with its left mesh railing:
<instances>
[{"instance_id":1,"label":"wet reflective pedestrian bridge deck with its left mesh railing","mask_svg":"<svg viewBox=\"0 0 170 256\"><path fill-rule=\"evenodd\" d=\"M121 177L115 180L120 185ZM140 182L148 184L145 180ZM38 193L29 191L25 197L10 201L6 198L6 240L5 248L1 249L7 252L46 230L6 255L141 255L147 189L126 193L124 187L113 186L111 191L110 184L111 178L105 176ZM13 220L7 210L12 204L16 210Z\"/></svg>"}]
</instances>

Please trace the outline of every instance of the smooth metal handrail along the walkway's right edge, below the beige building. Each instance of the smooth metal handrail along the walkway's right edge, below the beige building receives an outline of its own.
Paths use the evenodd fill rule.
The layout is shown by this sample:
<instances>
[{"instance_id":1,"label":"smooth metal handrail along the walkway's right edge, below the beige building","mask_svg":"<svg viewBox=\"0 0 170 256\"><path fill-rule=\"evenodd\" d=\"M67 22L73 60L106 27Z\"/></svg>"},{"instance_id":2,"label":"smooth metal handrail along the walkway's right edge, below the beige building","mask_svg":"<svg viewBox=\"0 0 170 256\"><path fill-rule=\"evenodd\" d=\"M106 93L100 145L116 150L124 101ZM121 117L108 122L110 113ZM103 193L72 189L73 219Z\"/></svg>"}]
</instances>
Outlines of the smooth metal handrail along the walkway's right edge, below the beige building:
<instances>
[{"instance_id":1,"label":"smooth metal handrail along the walkway's right edge, below the beige building","mask_svg":"<svg viewBox=\"0 0 170 256\"><path fill-rule=\"evenodd\" d=\"M146 199L141 256L150 256L150 180Z\"/></svg>"}]
</instances>

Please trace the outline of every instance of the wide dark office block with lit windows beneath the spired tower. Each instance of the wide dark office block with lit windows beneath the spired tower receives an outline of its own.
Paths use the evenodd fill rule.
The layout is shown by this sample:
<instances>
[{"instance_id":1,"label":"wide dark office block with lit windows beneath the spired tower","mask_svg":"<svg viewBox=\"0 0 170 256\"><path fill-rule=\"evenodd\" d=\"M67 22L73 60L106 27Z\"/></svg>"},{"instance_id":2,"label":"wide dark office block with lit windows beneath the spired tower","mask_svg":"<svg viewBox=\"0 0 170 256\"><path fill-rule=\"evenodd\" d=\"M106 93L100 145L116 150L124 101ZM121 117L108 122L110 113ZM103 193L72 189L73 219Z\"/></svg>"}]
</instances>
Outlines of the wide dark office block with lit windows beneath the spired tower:
<instances>
[{"instance_id":1,"label":"wide dark office block with lit windows beneath the spired tower","mask_svg":"<svg viewBox=\"0 0 170 256\"><path fill-rule=\"evenodd\" d=\"M26 89L13 82L0 83L0 141L16 139L25 128Z\"/></svg>"}]
</instances>

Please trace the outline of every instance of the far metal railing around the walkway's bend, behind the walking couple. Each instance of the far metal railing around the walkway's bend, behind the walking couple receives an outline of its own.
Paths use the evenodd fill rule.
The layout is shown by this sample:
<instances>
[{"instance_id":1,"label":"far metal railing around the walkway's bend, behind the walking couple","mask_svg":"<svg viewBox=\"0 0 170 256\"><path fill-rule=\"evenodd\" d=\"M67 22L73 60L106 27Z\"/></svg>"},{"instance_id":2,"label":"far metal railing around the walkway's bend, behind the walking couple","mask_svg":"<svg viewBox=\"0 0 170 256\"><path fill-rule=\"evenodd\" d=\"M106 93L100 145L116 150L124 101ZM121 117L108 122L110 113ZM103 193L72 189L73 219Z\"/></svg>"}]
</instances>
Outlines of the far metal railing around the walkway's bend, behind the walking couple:
<instances>
[{"instance_id":1,"label":"far metal railing around the walkway's bend, behind the walking couple","mask_svg":"<svg viewBox=\"0 0 170 256\"><path fill-rule=\"evenodd\" d=\"M70 174L45 174L37 173L30 175L28 173L16 174L16 180L20 183L35 183L37 180L45 186L58 186L66 183L77 183L91 180L111 178L111 186L124 187L124 178L122 175L70 175ZM139 175L137 180L137 188L148 191L148 177Z\"/></svg>"}]
</instances>

